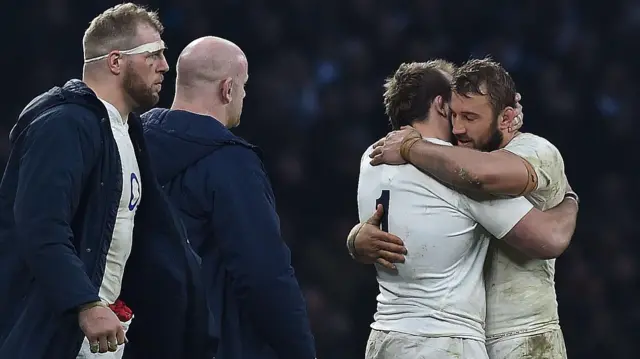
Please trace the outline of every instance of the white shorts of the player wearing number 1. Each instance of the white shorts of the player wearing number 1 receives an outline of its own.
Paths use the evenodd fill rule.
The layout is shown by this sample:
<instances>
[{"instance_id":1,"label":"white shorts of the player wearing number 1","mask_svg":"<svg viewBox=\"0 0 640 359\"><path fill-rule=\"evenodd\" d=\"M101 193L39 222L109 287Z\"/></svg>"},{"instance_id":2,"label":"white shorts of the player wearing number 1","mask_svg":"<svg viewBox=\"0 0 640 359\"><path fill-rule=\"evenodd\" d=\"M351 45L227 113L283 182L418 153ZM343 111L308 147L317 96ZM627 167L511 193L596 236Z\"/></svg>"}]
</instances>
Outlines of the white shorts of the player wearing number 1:
<instances>
[{"instance_id":1,"label":"white shorts of the player wearing number 1","mask_svg":"<svg viewBox=\"0 0 640 359\"><path fill-rule=\"evenodd\" d=\"M484 343L371 330L366 359L488 359Z\"/></svg>"}]
</instances>

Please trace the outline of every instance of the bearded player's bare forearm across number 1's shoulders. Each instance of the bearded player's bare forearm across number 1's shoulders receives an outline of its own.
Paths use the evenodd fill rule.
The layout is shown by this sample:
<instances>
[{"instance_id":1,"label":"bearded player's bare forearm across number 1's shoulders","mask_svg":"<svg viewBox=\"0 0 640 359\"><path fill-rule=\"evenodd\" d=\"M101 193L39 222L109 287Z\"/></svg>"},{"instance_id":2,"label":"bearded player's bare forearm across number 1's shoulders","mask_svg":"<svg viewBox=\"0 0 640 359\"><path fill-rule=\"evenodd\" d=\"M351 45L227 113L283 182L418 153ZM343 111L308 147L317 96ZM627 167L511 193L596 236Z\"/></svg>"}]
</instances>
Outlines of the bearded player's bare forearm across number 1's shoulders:
<instances>
[{"instance_id":1,"label":"bearded player's bare forearm across number 1's shoulders","mask_svg":"<svg viewBox=\"0 0 640 359\"><path fill-rule=\"evenodd\" d=\"M502 150L481 152L415 141L404 157L440 181L471 193L523 196L536 189L538 183L527 160Z\"/></svg>"}]
</instances>

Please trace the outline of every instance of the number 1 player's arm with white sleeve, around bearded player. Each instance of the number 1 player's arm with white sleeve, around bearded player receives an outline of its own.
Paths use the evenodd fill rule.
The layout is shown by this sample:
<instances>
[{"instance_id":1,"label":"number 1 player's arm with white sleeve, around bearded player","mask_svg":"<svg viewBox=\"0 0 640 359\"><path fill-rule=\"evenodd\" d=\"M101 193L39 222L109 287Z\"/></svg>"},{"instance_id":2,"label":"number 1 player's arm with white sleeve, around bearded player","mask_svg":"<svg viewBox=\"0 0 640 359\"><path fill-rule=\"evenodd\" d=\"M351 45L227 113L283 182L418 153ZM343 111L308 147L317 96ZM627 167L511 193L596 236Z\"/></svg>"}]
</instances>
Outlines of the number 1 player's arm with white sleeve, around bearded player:
<instances>
[{"instance_id":1,"label":"number 1 player's arm with white sleeve, around bearded player","mask_svg":"<svg viewBox=\"0 0 640 359\"><path fill-rule=\"evenodd\" d=\"M560 256L569 246L576 226L577 202L565 198L542 212L523 197L492 201L466 200L469 215L497 239L531 258Z\"/></svg>"}]
</instances>

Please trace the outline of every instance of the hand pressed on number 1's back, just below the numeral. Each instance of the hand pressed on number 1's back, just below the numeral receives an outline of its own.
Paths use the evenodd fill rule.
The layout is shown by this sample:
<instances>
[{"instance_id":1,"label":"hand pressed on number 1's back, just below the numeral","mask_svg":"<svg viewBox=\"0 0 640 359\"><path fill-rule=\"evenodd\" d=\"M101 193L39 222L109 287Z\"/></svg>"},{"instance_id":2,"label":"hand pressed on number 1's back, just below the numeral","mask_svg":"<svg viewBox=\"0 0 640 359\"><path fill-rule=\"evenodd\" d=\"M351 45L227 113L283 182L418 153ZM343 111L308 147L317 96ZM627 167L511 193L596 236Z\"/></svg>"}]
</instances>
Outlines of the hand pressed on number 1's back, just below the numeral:
<instances>
[{"instance_id":1,"label":"hand pressed on number 1's back, just below the numeral","mask_svg":"<svg viewBox=\"0 0 640 359\"><path fill-rule=\"evenodd\" d=\"M367 264L378 263L395 270L396 266L393 263L404 263L407 249L400 238L380 230L383 214L384 208L378 205L376 212L356 235L354 246L358 261Z\"/></svg>"}]
</instances>

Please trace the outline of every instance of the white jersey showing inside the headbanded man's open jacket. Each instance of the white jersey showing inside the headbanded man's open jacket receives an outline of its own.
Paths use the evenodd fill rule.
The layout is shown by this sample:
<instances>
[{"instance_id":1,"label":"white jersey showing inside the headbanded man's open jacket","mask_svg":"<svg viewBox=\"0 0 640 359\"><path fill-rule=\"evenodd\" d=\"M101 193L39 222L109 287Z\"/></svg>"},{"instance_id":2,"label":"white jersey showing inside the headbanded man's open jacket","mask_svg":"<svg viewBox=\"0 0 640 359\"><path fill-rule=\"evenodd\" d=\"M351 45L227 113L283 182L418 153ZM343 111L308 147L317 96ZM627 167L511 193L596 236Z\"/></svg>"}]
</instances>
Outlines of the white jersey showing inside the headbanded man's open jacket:
<instances>
[{"instance_id":1,"label":"white jersey showing inside the headbanded man's open jacket","mask_svg":"<svg viewBox=\"0 0 640 359\"><path fill-rule=\"evenodd\" d=\"M120 116L118 110L110 103L102 100L109 113L109 122L113 137L118 146L122 163L122 195L118 205L118 215L113 229L113 238L107 252L107 263L104 271L99 296L103 302L113 304L120 296L124 266L131 254L133 239L133 220L142 198L142 186L138 160L129 137L127 119Z\"/></svg>"}]
</instances>

